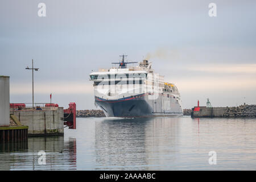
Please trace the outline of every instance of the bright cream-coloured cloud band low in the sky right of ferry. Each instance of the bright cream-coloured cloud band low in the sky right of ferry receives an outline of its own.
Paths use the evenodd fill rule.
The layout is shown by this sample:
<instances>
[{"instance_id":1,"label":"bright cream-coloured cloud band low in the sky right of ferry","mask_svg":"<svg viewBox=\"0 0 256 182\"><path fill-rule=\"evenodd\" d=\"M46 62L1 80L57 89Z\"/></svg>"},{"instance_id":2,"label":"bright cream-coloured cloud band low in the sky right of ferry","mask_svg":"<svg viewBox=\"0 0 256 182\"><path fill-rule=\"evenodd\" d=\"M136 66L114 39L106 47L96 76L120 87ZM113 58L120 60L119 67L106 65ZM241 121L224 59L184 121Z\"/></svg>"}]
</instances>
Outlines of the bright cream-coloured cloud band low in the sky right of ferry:
<instances>
[{"instance_id":1,"label":"bright cream-coloured cloud band low in the sky right of ferry","mask_svg":"<svg viewBox=\"0 0 256 182\"><path fill-rule=\"evenodd\" d=\"M256 90L256 64L203 64L202 66L197 64L179 69L184 73L190 71L189 76L175 77L175 79L167 76L165 80L172 80L182 93L210 92L228 96L229 93L238 90L239 92Z\"/></svg>"}]
</instances>

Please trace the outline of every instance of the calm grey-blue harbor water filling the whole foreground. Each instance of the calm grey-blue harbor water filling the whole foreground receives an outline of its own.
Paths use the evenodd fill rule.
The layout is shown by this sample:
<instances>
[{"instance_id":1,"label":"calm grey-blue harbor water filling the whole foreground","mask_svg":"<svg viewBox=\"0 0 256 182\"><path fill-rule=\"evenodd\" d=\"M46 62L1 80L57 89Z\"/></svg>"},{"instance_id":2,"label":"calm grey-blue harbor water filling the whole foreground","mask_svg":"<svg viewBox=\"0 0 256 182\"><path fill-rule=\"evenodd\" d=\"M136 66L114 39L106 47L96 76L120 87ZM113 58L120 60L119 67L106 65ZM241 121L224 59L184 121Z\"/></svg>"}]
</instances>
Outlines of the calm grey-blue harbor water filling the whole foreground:
<instances>
[{"instance_id":1,"label":"calm grey-blue harbor water filling the whole foreground","mask_svg":"<svg viewBox=\"0 0 256 182\"><path fill-rule=\"evenodd\" d=\"M77 118L64 137L0 144L1 170L252 170L256 119ZM40 165L39 151L46 152ZM217 154L210 165L209 151Z\"/></svg>"}]
</instances>

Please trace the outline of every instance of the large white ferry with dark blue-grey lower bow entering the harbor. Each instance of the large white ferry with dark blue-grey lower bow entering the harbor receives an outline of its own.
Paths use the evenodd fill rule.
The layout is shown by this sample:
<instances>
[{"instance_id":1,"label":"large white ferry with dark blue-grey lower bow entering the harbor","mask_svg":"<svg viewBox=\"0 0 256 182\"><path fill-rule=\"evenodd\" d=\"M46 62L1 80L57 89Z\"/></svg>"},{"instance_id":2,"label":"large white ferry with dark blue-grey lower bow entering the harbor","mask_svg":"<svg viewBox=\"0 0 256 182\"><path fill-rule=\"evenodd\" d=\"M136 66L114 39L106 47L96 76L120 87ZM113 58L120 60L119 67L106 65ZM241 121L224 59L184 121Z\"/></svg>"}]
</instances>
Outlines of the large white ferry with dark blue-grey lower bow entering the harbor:
<instances>
[{"instance_id":1,"label":"large white ferry with dark blue-grey lower bow entering the harbor","mask_svg":"<svg viewBox=\"0 0 256 182\"><path fill-rule=\"evenodd\" d=\"M95 104L106 117L181 116L179 91L164 76L155 73L152 63L143 60L137 67L127 68L125 55L117 68L99 69L90 73Z\"/></svg>"}]
</instances>

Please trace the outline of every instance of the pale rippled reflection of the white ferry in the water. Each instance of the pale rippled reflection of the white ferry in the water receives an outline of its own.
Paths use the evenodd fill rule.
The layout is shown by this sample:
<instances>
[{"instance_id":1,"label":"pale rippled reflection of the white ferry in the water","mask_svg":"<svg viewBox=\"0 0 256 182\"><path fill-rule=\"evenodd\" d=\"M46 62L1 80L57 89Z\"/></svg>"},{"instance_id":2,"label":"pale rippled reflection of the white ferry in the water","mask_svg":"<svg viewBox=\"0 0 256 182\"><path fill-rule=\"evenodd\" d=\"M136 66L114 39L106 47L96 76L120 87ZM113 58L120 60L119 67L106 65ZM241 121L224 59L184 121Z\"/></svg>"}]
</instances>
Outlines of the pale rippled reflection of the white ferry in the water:
<instances>
[{"instance_id":1,"label":"pale rippled reflection of the white ferry in the water","mask_svg":"<svg viewBox=\"0 0 256 182\"><path fill-rule=\"evenodd\" d=\"M96 169L164 169L162 160L175 160L179 119L105 119L96 123ZM170 158L163 159L166 155Z\"/></svg>"}]
</instances>

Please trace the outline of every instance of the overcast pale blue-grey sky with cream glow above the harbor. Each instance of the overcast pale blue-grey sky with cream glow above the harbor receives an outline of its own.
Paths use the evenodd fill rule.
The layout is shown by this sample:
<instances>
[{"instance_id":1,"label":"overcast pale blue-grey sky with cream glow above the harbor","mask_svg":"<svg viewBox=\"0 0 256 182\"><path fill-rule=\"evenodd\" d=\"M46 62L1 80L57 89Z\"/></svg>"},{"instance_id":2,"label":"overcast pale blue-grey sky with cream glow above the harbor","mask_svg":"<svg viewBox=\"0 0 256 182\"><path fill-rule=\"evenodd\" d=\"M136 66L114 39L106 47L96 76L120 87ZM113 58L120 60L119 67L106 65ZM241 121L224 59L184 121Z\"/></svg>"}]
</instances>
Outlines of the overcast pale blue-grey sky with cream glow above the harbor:
<instances>
[{"instance_id":1,"label":"overcast pale blue-grey sky with cream glow above the harbor","mask_svg":"<svg viewBox=\"0 0 256 182\"><path fill-rule=\"evenodd\" d=\"M46 4L46 17L38 4ZM217 5L209 17L208 5ZM209 97L213 106L256 104L256 1L0 1L0 75L10 76L10 102L93 109L89 73L125 53L145 58L173 82L183 108Z\"/></svg>"}]
</instances>

